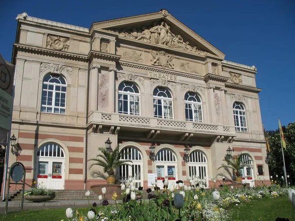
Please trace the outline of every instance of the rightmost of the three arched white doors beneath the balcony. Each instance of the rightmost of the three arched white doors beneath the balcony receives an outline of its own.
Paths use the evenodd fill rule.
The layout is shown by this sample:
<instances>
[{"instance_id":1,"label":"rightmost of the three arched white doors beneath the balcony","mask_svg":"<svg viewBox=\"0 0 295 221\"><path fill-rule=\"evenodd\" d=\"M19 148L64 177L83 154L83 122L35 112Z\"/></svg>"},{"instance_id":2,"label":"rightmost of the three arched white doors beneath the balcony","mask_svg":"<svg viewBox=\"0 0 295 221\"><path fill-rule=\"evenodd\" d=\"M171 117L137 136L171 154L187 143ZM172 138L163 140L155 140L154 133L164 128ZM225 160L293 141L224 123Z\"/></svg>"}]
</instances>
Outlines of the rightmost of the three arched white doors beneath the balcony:
<instances>
[{"instance_id":1,"label":"rightmost of the three arched white doors beneath the balcony","mask_svg":"<svg viewBox=\"0 0 295 221\"><path fill-rule=\"evenodd\" d=\"M192 151L188 159L188 170L190 177L207 179L208 165L205 154L199 150Z\"/></svg>"}]
</instances>

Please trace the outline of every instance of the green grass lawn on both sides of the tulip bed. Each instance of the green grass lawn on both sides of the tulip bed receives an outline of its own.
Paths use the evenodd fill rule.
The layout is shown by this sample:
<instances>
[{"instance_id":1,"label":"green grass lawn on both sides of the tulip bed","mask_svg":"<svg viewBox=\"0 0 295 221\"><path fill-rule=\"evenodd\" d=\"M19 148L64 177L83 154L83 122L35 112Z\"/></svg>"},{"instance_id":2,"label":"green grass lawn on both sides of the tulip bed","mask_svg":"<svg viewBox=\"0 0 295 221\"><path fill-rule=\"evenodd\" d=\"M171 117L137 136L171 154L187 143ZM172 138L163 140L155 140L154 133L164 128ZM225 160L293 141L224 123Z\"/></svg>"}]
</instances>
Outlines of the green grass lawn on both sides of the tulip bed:
<instances>
[{"instance_id":1,"label":"green grass lawn on both sides of the tulip bed","mask_svg":"<svg viewBox=\"0 0 295 221\"><path fill-rule=\"evenodd\" d=\"M87 216L89 208L78 208L78 211ZM293 207L287 196L283 196L243 203L230 209L230 213L233 214L230 221L275 221L277 217L289 218L292 221ZM0 214L0 220L5 221L60 221L62 219L67 221L64 208Z\"/></svg>"}]
</instances>

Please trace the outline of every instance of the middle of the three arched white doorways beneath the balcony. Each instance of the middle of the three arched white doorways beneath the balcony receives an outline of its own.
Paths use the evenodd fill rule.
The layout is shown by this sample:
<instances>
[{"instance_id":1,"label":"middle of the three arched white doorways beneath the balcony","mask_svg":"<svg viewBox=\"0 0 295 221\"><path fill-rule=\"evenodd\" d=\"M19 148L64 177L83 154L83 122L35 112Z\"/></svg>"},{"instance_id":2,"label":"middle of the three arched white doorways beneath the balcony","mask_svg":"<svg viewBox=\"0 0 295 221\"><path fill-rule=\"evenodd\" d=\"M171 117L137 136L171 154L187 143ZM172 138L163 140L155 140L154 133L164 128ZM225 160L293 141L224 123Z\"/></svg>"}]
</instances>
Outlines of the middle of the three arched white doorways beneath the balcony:
<instances>
[{"instance_id":1,"label":"middle of the three arched white doorways beneath the balcony","mask_svg":"<svg viewBox=\"0 0 295 221\"><path fill-rule=\"evenodd\" d=\"M169 184L177 181L177 158L170 149L158 151L155 159L157 185L163 189L163 180L168 179Z\"/></svg>"}]
</instances>

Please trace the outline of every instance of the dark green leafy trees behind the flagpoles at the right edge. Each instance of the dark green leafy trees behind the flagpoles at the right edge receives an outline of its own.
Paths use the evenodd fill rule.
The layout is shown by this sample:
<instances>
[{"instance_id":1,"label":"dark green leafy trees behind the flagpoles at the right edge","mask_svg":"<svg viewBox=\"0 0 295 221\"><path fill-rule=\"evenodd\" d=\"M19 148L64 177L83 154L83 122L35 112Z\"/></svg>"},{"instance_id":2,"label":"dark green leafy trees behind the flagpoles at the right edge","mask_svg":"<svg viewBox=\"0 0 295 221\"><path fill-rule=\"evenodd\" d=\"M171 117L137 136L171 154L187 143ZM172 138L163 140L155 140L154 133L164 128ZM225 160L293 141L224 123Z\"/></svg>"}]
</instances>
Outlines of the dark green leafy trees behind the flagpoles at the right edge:
<instances>
[{"instance_id":1,"label":"dark green leafy trees behind the flagpoles at the right edge","mask_svg":"<svg viewBox=\"0 0 295 221\"><path fill-rule=\"evenodd\" d=\"M294 185L295 177L295 122L288 124L287 127L282 127L284 137L286 140L287 149L284 149L284 158L286 165L286 173L290 176L288 182ZM275 177L278 175L278 179L281 183L282 176L284 176L283 170L283 156L281 147L280 131L267 131L266 136L270 146L270 158L268 161L269 174ZM285 181L284 181L285 182Z\"/></svg>"}]
</instances>

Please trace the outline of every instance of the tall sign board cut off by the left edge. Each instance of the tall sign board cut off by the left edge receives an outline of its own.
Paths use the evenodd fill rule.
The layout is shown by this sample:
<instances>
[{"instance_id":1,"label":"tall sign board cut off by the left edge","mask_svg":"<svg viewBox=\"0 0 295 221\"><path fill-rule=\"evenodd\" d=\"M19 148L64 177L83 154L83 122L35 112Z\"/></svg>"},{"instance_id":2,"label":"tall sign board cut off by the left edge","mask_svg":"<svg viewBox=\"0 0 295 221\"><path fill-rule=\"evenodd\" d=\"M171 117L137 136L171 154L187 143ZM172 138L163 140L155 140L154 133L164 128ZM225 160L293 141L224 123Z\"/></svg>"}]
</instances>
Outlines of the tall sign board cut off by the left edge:
<instances>
[{"instance_id":1,"label":"tall sign board cut off by the left edge","mask_svg":"<svg viewBox=\"0 0 295 221\"><path fill-rule=\"evenodd\" d=\"M13 80L15 66L0 55L0 145L7 145L13 108Z\"/></svg>"}]
</instances>

